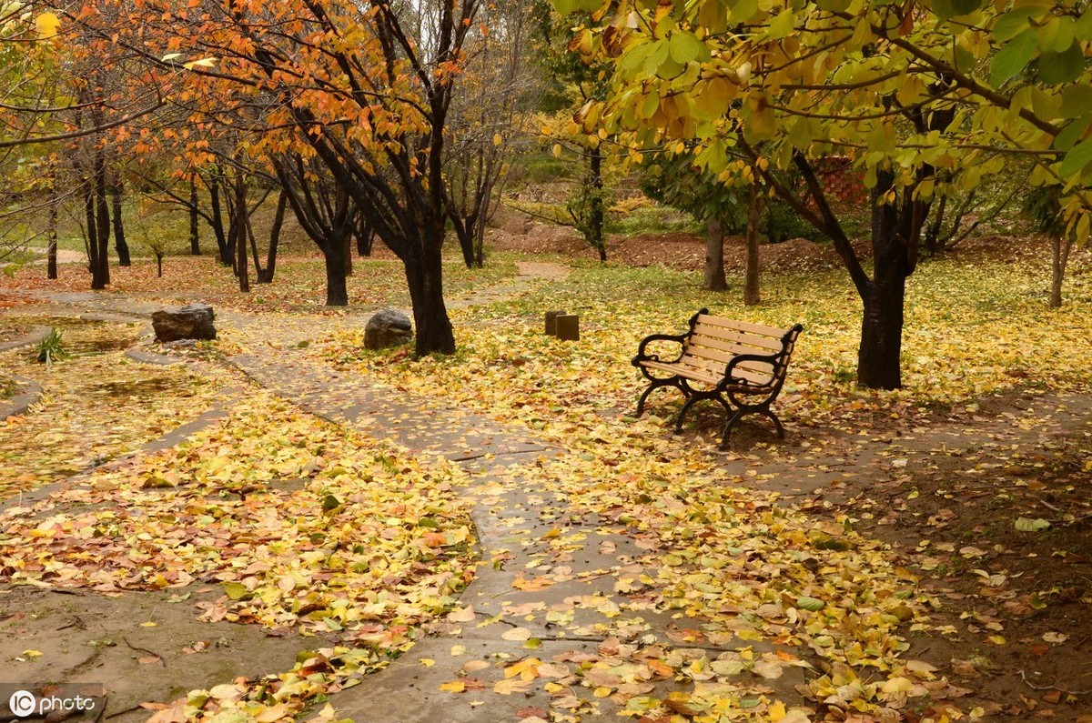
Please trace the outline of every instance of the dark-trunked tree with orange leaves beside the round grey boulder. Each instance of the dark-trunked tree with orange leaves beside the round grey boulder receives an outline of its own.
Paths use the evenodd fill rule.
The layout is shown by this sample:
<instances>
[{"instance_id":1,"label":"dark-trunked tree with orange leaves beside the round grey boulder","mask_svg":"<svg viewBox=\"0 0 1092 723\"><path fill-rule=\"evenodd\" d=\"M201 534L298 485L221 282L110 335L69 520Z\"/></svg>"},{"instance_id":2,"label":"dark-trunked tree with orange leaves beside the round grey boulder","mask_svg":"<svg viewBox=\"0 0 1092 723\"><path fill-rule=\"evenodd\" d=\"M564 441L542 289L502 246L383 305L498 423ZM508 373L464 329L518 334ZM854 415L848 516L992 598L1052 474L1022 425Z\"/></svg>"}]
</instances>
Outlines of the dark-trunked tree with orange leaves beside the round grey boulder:
<instances>
[{"instance_id":1,"label":"dark-trunked tree with orange leaves beside the round grey boulder","mask_svg":"<svg viewBox=\"0 0 1092 723\"><path fill-rule=\"evenodd\" d=\"M150 61L179 54L183 93L222 88L218 97L269 103L263 127L248 129L251 152L307 147L325 164L403 262L417 354L451 353L444 131L478 9L477 0L146 2L117 42Z\"/></svg>"}]
</instances>

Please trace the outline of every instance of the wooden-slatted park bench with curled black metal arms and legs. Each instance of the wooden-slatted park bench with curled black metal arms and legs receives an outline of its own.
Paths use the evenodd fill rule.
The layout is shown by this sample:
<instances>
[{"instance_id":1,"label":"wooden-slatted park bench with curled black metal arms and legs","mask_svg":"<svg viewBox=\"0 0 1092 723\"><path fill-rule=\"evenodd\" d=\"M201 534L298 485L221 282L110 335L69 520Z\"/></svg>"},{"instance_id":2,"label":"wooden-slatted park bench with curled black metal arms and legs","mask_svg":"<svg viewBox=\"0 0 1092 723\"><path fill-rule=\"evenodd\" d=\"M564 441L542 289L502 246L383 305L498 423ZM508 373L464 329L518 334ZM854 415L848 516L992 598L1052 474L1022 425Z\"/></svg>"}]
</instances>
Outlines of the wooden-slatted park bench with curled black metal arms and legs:
<instances>
[{"instance_id":1,"label":"wooden-slatted park bench with curled black metal arms and legs","mask_svg":"<svg viewBox=\"0 0 1092 723\"><path fill-rule=\"evenodd\" d=\"M804 327L776 329L762 324L733 321L710 316L701 309L690 318L685 334L645 336L633 357L633 366L649 380L649 388L637 403L637 416L644 414L644 402L653 390L675 387L686 403L675 420L675 431L682 430L682 419L695 402L715 400L727 411L721 448L726 449L732 428L748 414L761 414L773 420L778 436L785 428L770 406L785 383L785 371L796 337ZM677 357L663 358L649 352L650 345L670 343L681 346Z\"/></svg>"}]
</instances>

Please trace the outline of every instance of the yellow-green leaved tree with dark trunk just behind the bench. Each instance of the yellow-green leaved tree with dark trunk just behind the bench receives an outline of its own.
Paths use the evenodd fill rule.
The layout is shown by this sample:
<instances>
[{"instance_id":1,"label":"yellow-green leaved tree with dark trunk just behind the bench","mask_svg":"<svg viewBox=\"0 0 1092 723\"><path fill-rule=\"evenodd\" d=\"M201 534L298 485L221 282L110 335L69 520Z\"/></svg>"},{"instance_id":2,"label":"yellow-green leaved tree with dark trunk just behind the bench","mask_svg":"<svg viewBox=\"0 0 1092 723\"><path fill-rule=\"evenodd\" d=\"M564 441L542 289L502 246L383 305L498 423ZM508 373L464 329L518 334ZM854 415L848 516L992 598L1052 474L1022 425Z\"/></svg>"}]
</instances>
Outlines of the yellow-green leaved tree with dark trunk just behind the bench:
<instances>
[{"instance_id":1,"label":"yellow-green leaved tree with dark trunk just behind the bench","mask_svg":"<svg viewBox=\"0 0 1092 723\"><path fill-rule=\"evenodd\" d=\"M1061 188L1064 217L1078 239L1089 236L1085 2L556 4L603 20L579 47L615 60L616 85L601 109L608 127L644 144L697 141L710 171L729 179L746 166L832 239L864 305L865 387L902 383L905 281L934 200L953 186L972 189L1001 173L1006 157L1028 157L1029 180ZM734 149L747 161L734 161ZM816 175L815 161L830 153L850 155L870 189L870 273ZM810 203L773 173L790 167Z\"/></svg>"}]
</instances>

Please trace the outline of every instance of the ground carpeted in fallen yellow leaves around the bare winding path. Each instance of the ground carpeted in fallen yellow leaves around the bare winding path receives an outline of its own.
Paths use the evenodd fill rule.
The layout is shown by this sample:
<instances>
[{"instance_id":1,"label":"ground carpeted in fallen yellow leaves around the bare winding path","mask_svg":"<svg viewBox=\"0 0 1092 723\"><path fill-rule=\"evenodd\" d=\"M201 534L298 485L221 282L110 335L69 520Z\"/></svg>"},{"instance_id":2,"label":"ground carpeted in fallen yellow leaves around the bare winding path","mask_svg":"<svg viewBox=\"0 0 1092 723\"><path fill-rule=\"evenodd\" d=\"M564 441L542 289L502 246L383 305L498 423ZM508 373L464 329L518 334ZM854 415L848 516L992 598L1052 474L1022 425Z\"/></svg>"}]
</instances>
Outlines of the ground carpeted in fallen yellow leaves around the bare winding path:
<instances>
[{"instance_id":1,"label":"ground carpeted in fallen yellow leaves around the bare winding path","mask_svg":"<svg viewBox=\"0 0 1092 723\"><path fill-rule=\"evenodd\" d=\"M702 621L676 631L674 648L638 636L594 660L509 663L511 683L495 692L539 685L556 704L523 711L531 723L593 714L594 700L642 721L1084 723L1092 275L1079 258L1066 307L1049 310L1047 264L1028 262L1045 257L995 251L975 247L912 277L899 392L853 384L859 304L844 274L819 265L768 274L763 305L745 308L734 293L701 292L692 273L658 266L578 264L566 277L509 288L514 259L501 257L491 275L454 273L468 301L475 289L497 293L454 305L453 357L361 352L363 331L340 319L316 322L300 353L560 450L506 472L586 523L626 531L639 550L633 568L649 572L616 583L629 601L617 614L654 609ZM404 301L396 269L365 269L357 278L370 285L358 298ZM119 292L175 298L177 287L147 272L127 271L133 276L119 277ZM194 271L191 282L202 277ZM85 280L58 288L82 291L78 281ZM217 298L230 298L216 283ZM295 323L294 300L314 294L299 284L229 305L260 312L259 324L288 311ZM16 284L27 298L43 287L23 275ZM627 416L641 390L628 364L638 341L680 331L701 306L804 324L778 403L785 442L759 422L740 430L734 451L719 452L723 419L713 408L673 437L679 400L666 391L652 398L651 415ZM581 315L579 343L542 333L542 313L563 307ZM0 497L69 481L3 512L8 591L194 593L210 623L322 641L292 669L150 703L158 722L276 721L305 711L331 719L333 710L308 706L402 654L423 626L450 619L453 608L461 614L458 594L474 569L463 470L302 413L226 368L126 357L121 349L140 342L136 328L8 318L12 333L63 327L80 352L50 369L29 349L0 356L3 372L32 377L45 391L31 414L2 423L0 453L11 463L0 469ZM229 332L211 346L230 355L241 341ZM188 441L126 457L225 396L223 416ZM32 448L31 438L43 446ZM547 534L561 554L580 542L567 528ZM565 566L529 567L518 589L546 589L566 574ZM525 613L567 623L560 609ZM769 652L784 649L799 655ZM24 652L24 663L38 659ZM786 703L767 684L800 666L802 698ZM443 690L473 691L472 679L468 671ZM661 696L649 685L660 679L684 690ZM573 708L572 688L593 702Z\"/></svg>"}]
</instances>

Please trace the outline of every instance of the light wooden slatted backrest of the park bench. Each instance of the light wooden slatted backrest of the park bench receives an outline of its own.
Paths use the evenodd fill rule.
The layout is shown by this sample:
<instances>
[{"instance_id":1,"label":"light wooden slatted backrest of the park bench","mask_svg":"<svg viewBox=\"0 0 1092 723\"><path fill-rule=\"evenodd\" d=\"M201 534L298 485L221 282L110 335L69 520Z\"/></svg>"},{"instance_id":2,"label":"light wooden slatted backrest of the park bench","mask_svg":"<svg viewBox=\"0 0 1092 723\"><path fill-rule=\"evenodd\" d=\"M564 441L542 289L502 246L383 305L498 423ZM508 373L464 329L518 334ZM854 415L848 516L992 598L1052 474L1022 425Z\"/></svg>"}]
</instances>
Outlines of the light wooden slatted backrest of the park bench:
<instances>
[{"instance_id":1,"label":"light wooden slatted backrest of the park bench","mask_svg":"<svg viewBox=\"0 0 1092 723\"><path fill-rule=\"evenodd\" d=\"M781 387L785 381L788 359L803 327L778 329L764 324L714 317L702 309L690 320L690 335L682 362L723 375L728 362L744 354L776 355L773 360L739 362L733 378L759 387Z\"/></svg>"}]
</instances>

